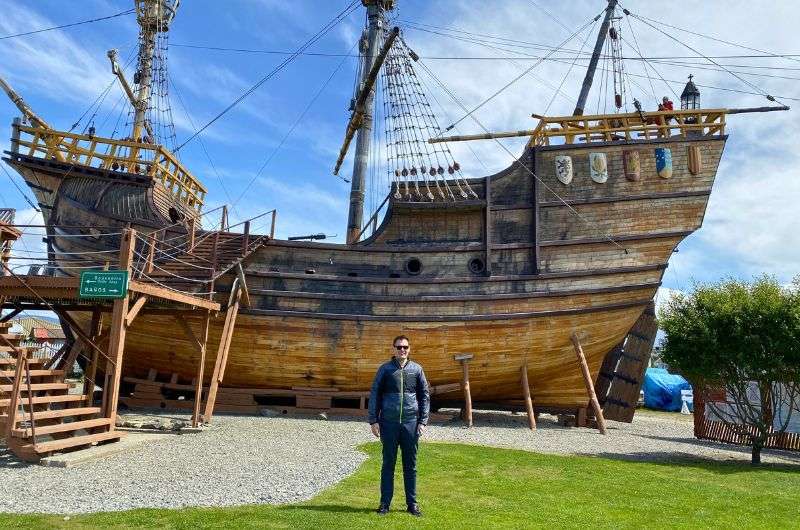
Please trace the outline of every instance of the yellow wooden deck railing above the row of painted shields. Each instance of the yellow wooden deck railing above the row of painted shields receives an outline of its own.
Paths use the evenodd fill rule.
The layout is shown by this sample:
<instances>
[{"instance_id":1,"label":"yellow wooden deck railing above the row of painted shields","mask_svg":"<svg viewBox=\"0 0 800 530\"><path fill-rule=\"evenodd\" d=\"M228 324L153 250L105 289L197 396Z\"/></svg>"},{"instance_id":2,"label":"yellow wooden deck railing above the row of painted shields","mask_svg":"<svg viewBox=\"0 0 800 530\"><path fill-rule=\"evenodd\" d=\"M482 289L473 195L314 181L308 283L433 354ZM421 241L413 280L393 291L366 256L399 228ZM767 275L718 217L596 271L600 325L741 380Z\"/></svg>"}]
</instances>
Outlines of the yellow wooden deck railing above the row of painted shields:
<instances>
[{"instance_id":1,"label":"yellow wooden deck railing above the row of painted shields","mask_svg":"<svg viewBox=\"0 0 800 530\"><path fill-rule=\"evenodd\" d=\"M671 136L725 134L725 109L669 110L539 118L531 145L654 140Z\"/></svg>"}]
</instances>

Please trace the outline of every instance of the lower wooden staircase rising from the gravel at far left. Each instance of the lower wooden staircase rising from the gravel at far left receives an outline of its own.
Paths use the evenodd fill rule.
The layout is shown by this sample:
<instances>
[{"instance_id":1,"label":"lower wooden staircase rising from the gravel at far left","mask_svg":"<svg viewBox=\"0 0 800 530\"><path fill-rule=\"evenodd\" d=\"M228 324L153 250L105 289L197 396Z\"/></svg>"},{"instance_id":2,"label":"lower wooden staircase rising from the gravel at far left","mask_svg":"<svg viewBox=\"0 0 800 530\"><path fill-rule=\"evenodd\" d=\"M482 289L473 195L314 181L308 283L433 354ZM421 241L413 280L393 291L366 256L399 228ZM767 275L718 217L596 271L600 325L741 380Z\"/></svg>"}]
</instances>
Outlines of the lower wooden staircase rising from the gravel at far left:
<instances>
[{"instance_id":1,"label":"lower wooden staircase rising from the gravel at far left","mask_svg":"<svg viewBox=\"0 0 800 530\"><path fill-rule=\"evenodd\" d=\"M0 436L27 462L52 453L119 440L113 420L92 406L92 396L70 394L65 370L45 368L47 359L30 359L20 336L0 323ZM5 340L4 340L5 339ZM10 344L9 344L10 343ZM10 350L10 351L9 351Z\"/></svg>"}]
</instances>

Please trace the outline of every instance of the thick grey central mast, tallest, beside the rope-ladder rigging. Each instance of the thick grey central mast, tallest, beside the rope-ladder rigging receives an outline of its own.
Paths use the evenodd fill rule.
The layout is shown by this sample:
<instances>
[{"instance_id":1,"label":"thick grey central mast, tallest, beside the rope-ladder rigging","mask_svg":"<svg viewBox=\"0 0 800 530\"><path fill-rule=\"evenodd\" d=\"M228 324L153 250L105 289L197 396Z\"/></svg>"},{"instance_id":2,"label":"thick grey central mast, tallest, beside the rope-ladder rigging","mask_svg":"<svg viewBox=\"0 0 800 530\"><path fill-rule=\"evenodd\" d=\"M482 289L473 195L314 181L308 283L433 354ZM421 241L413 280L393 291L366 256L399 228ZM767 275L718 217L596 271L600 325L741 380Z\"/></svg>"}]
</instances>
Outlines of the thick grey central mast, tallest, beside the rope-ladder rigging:
<instances>
[{"instance_id":1,"label":"thick grey central mast, tallest, beside the rope-ladder rigging","mask_svg":"<svg viewBox=\"0 0 800 530\"><path fill-rule=\"evenodd\" d=\"M363 58L359 91L367 87L367 78L380 50L383 37L383 13L394 7L394 0L361 0L367 8L367 27L361 37L360 52ZM361 233L364 220L364 181L367 175L370 144L372 141L372 122L375 107L374 87L367 88L369 93L364 99L364 112L361 126L356 137L356 151L353 158L353 178L350 181L350 211L347 215L347 244L353 244ZM358 98L357 98L358 99Z\"/></svg>"}]
</instances>

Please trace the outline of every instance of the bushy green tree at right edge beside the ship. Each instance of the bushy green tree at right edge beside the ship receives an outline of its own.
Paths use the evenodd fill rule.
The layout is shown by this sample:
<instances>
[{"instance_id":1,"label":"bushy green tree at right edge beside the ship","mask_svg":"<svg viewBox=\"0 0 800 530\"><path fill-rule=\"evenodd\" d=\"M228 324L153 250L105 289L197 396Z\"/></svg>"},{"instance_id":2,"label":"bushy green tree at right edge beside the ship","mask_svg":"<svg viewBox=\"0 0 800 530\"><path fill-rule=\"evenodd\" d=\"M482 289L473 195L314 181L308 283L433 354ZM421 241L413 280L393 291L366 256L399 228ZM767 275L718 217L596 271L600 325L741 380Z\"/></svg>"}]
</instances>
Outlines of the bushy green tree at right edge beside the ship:
<instances>
[{"instance_id":1,"label":"bushy green tree at right edge beside the ship","mask_svg":"<svg viewBox=\"0 0 800 530\"><path fill-rule=\"evenodd\" d=\"M696 391L725 391L728 404L706 406L749 440L753 464L800 399L799 291L800 277L790 288L768 276L726 280L675 296L659 315L664 361Z\"/></svg>"}]
</instances>

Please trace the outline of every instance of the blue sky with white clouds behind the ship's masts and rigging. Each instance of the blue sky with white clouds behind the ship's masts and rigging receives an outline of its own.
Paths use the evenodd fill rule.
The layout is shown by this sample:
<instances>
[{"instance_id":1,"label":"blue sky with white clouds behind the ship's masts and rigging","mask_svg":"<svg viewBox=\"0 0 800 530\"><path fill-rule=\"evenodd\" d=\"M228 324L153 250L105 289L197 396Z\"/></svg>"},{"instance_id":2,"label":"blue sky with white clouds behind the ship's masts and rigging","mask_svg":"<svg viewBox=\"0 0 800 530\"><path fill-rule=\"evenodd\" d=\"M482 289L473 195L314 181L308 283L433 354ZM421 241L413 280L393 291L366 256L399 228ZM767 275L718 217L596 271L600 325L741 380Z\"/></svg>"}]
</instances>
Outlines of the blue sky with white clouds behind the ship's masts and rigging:
<instances>
[{"instance_id":1,"label":"blue sky with white clouds behind the ship's masts and rigging","mask_svg":"<svg viewBox=\"0 0 800 530\"><path fill-rule=\"evenodd\" d=\"M169 35L177 142L189 138L287 57L265 52L298 49L349 4L350 0L184 0ZM52 126L69 129L113 81L106 51L119 50L123 62L134 53L133 15L2 37L104 17L132 5L127 0L0 0L0 75ZM586 64L578 60L573 65L573 59L579 50L590 51L599 27L591 20L604 5L599 0L398 0L391 19L422 63L467 108L540 62L486 102L475 112L475 120L467 118L452 131L469 134L483 132L483 127L533 128L531 113L571 114ZM631 12L620 20L623 55L632 58L625 61L629 107L636 97L645 109L652 109L663 95L677 106L685 80L693 74L705 108L768 105L764 94L800 108L800 4L627 0L621 5ZM294 59L180 150L184 164L209 189L207 208L233 204L234 219L277 208L278 237L322 232L335 242L344 239L349 184L333 176L332 168L349 118L357 59L342 55L352 55L364 19L358 7L307 49L318 55ZM538 45L562 43L563 49L549 55L555 60L531 57L548 53ZM742 57L753 55L760 57ZM653 69L634 60L638 57L651 58ZM609 85L602 82L605 66L601 62L587 113L611 110ZM725 69L740 72L738 78ZM439 124L445 127L461 118L459 104L419 70ZM760 75L750 75L754 72ZM132 69L126 74L131 79ZM108 135L119 119L127 119L127 110L120 111L121 97L114 85L99 103L93 117L97 134ZM17 115L10 101L0 97L0 123L7 124L9 133ZM703 227L673 255L661 300L672 291L691 289L695 282L766 273L788 283L798 274L796 116L794 109L729 116L730 138ZM8 136L0 136L3 150L8 149ZM518 154L524 139L504 144ZM513 161L491 141L451 147L466 176L485 176ZM351 164L348 158L340 172L345 178ZM381 171L368 182L365 218L385 195ZM0 207L17 208L19 223L41 222L2 171ZM35 235L23 244L41 246Z\"/></svg>"}]
</instances>

